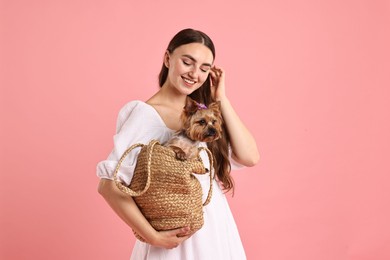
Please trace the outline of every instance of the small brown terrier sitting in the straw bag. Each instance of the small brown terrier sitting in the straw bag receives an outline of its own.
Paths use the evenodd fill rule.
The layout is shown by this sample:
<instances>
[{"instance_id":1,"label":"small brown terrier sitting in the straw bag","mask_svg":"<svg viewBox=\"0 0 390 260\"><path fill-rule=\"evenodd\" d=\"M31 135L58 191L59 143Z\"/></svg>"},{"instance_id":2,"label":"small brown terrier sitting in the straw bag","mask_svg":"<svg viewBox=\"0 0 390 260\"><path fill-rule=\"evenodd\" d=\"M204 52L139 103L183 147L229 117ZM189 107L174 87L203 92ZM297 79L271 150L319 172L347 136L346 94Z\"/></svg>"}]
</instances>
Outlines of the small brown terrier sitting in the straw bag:
<instances>
[{"instance_id":1,"label":"small brown terrier sitting in the straw bag","mask_svg":"<svg viewBox=\"0 0 390 260\"><path fill-rule=\"evenodd\" d=\"M222 135L221 102L213 102L208 107L187 97L181 114L182 128L164 145L172 148L179 160L198 156L199 142L212 142Z\"/></svg>"}]
</instances>

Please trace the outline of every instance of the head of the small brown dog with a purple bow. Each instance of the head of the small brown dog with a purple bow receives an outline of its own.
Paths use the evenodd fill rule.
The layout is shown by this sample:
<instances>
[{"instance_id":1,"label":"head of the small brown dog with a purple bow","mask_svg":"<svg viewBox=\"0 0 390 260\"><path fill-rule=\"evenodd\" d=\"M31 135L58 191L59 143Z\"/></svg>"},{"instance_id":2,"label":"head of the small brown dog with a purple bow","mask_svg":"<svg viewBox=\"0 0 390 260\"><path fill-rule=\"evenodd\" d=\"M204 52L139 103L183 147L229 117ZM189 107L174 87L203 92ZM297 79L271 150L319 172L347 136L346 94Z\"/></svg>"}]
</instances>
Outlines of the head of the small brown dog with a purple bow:
<instances>
[{"instance_id":1,"label":"head of the small brown dog with a purple bow","mask_svg":"<svg viewBox=\"0 0 390 260\"><path fill-rule=\"evenodd\" d=\"M212 142L222 136L221 102L208 107L187 97L181 115L183 131L194 141Z\"/></svg>"}]
</instances>

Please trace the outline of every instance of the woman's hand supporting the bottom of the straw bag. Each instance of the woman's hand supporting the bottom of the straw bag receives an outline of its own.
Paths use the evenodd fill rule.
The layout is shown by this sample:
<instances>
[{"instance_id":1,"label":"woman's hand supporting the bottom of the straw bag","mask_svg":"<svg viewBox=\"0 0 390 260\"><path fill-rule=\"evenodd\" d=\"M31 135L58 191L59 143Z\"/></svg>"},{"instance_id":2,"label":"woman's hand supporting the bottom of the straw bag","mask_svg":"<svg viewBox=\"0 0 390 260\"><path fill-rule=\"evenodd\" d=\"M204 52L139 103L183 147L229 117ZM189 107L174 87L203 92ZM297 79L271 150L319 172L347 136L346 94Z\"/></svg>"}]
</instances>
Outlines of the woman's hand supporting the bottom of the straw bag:
<instances>
[{"instance_id":1,"label":"woman's hand supporting the bottom of the straw bag","mask_svg":"<svg viewBox=\"0 0 390 260\"><path fill-rule=\"evenodd\" d=\"M159 231L157 237L151 241L152 246L172 249L188 239L192 234L189 227L177 228L168 231Z\"/></svg>"}]
</instances>

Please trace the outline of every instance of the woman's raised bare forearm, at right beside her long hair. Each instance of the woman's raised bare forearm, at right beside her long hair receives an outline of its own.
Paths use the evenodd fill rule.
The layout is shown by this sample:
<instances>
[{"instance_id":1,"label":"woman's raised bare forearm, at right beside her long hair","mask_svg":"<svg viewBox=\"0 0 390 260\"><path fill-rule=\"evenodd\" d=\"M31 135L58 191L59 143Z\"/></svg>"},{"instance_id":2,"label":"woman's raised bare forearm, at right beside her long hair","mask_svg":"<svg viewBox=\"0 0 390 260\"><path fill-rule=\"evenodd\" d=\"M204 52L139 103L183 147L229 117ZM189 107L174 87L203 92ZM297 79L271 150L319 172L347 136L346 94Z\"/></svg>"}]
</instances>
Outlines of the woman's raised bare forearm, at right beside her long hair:
<instances>
[{"instance_id":1,"label":"woman's raised bare forearm, at right beside her long hair","mask_svg":"<svg viewBox=\"0 0 390 260\"><path fill-rule=\"evenodd\" d=\"M245 166L254 166L260 157L254 137L241 121L230 101L226 97L220 101L234 160Z\"/></svg>"}]
</instances>

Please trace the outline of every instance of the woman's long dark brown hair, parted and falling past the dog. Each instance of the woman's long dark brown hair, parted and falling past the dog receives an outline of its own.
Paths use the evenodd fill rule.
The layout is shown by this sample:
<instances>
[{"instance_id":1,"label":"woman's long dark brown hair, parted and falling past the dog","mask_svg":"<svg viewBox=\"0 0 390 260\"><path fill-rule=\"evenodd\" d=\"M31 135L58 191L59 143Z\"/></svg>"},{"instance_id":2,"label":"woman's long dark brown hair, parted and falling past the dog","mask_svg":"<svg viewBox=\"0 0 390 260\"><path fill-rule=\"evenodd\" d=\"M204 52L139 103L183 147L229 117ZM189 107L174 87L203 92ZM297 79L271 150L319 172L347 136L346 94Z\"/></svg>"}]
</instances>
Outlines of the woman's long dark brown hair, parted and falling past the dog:
<instances>
[{"instance_id":1,"label":"woman's long dark brown hair, parted and falling past the dog","mask_svg":"<svg viewBox=\"0 0 390 260\"><path fill-rule=\"evenodd\" d=\"M204 44L211 50L213 58L215 59L215 47L210 37L207 36L205 33L194 29L184 29L178 32L169 42L167 51L169 53L172 53L177 47L189 43ZM167 77L168 68L163 63L158 77L160 87L164 85L165 81L167 80ZM206 105L214 102L215 100L213 100L211 96L210 75L203 83L203 85L199 89L191 93L191 95L189 96L192 99L198 101L199 103L203 103ZM225 124L223 124L222 137L217 141L207 144L208 148L213 153L215 173L218 177L218 180L222 184L223 189L226 191L233 189L234 191L234 182L233 178L230 175L231 165L229 161L229 145L230 138Z\"/></svg>"}]
</instances>

